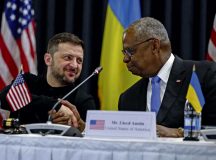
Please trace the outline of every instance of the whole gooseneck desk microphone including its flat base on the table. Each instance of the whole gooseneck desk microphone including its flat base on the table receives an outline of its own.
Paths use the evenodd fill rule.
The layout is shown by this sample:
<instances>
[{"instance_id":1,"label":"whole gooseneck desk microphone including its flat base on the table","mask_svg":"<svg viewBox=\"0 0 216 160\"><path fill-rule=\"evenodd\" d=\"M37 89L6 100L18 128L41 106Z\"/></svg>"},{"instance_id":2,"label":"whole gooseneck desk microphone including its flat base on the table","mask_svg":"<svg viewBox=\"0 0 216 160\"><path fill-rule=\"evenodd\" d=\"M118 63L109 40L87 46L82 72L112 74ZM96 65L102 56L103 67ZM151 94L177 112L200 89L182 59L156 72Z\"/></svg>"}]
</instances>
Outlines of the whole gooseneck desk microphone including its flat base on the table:
<instances>
[{"instance_id":1,"label":"whole gooseneck desk microphone including its flat base on the table","mask_svg":"<svg viewBox=\"0 0 216 160\"><path fill-rule=\"evenodd\" d=\"M69 93L67 93L64 97L62 97L62 100L67 98L71 93L73 93L76 89L78 89L82 84L84 84L86 81L88 81L92 76L99 74L102 71L102 67L97 67L94 72L88 76L84 81L82 81L79 85L77 85L74 89L72 89ZM60 103L60 101L57 101L54 106L52 107L51 111L56 109L57 105ZM83 135L80 133L80 131L77 128L74 128L72 126L68 125L62 125L62 124L53 124L51 122L51 116L49 115L47 123L34 123L34 124L26 124L25 128L28 133L36 133L41 134L43 136L45 135L62 135L62 136L72 136L72 137L83 137Z\"/></svg>"}]
</instances>

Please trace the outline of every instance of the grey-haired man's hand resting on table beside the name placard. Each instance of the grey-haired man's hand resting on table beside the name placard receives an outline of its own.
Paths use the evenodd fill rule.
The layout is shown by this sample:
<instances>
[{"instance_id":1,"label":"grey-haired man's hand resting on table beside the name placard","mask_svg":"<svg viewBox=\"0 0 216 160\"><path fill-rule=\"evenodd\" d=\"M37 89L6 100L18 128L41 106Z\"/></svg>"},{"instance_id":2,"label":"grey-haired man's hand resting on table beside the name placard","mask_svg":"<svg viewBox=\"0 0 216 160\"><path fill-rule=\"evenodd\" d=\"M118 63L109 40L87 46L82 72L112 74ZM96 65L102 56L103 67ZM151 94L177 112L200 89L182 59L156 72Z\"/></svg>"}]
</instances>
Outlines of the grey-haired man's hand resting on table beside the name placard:
<instances>
[{"instance_id":1,"label":"grey-haired man's hand resting on table beside the name placard","mask_svg":"<svg viewBox=\"0 0 216 160\"><path fill-rule=\"evenodd\" d=\"M158 137L183 137L183 130L180 128L168 128L161 125L157 125L157 136Z\"/></svg>"}]
</instances>

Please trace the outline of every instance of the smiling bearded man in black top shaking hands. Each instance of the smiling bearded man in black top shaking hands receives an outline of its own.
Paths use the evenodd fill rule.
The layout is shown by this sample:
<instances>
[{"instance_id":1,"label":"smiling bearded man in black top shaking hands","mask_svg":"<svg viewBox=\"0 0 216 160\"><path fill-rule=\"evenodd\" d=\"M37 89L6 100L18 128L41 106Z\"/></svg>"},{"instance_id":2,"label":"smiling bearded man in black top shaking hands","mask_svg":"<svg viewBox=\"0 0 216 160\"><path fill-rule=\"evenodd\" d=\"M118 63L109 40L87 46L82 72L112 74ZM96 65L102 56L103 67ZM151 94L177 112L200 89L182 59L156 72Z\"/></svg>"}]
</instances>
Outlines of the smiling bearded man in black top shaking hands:
<instances>
[{"instance_id":1,"label":"smiling bearded man in black top shaking hands","mask_svg":"<svg viewBox=\"0 0 216 160\"><path fill-rule=\"evenodd\" d=\"M60 100L56 111L51 109L59 98L64 97L75 87L79 78L84 56L84 43L70 33L59 33L53 36L44 55L47 65L46 76L36 76L31 73L23 75L32 101L18 111L12 112L11 117L19 118L21 124L43 123L51 114L54 123L70 124L79 130L85 127L87 110L96 109L91 95L77 89L65 100ZM11 110L6 101L10 86L0 93L1 107Z\"/></svg>"}]
</instances>

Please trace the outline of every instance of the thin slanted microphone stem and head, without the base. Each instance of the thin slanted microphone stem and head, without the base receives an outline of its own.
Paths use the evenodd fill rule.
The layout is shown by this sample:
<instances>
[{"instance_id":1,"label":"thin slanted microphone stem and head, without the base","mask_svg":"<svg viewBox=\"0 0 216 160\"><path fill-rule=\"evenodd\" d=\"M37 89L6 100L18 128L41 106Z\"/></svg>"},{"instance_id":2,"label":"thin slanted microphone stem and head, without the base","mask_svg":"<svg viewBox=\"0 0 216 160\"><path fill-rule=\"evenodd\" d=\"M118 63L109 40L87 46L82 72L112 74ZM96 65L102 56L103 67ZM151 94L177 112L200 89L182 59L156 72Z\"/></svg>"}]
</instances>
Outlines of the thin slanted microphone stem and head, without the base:
<instances>
[{"instance_id":1,"label":"thin slanted microphone stem and head, without the base","mask_svg":"<svg viewBox=\"0 0 216 160\"><path fill-rule=\"evenodd\" d=\"M65 98L67 98L71 93L73 93L75 90L77 90L81 85L83 85L86 81L88 81L92 76L99 74L102 71L102 69L103 69L103 67L101 67L101 66L97 67L90 76L88 76L84 81L82 81L79 85L77 85L74 89L72 89L69 93L67 93L61 99L64 100ZM51 111L55 110L59 103L60 103L60 101L57 101L54 104L54 106L52 107ZM48 121L47 122L48 123L51 122L51 116L50 115L48 117Z\"/></svg>"}]
</instances>

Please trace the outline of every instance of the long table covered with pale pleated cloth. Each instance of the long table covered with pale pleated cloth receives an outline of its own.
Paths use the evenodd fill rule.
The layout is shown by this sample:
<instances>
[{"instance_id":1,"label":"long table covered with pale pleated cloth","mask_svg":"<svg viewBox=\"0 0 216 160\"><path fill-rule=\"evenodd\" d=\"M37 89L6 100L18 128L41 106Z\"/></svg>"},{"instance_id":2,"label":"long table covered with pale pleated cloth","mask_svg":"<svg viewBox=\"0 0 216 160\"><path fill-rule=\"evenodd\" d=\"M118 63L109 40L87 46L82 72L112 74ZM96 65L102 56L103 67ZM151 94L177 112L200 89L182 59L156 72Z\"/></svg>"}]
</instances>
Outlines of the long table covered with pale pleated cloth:
<instances>
[{"instance_id":1,"label":"long table covered with pale pleated cloth","mask_svg":"<svg viewBox=\"0 0 216 160\"><path fill-rule=\"evenodd\" d=\"M215 160L215 142L0 134L0 160Z\"/></svg>"}]
</instances>

